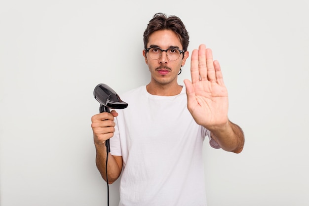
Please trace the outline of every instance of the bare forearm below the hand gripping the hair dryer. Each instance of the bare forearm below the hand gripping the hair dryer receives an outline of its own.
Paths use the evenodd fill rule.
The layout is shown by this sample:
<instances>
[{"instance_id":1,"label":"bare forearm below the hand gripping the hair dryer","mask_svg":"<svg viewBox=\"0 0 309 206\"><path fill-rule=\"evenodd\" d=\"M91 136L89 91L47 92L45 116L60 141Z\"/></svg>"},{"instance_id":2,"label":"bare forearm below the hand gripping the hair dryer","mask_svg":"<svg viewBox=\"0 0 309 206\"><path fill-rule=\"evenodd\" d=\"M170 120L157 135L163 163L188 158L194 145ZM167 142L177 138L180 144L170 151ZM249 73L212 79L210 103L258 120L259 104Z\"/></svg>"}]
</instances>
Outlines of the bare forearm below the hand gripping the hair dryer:
<instances>
[{"instance_id":1,"label":"bare forearm below the hand gripping the hair dryer","mask_svg":"<svg viewBox=\"0 0 309 206\"><path fill-rule=\"evenodd\" d=\"M106 179L106 158L107 152L105 145L95 145L96 148L96 165L101 173L102 178L107 182ZM116 181L116 179L120 176L122 170L122 160L121 157L115 158L111 153L108 153L108 165L107 165L107 173L108 173L108 183L112 184Z\"/></svg>"}]
</instances>

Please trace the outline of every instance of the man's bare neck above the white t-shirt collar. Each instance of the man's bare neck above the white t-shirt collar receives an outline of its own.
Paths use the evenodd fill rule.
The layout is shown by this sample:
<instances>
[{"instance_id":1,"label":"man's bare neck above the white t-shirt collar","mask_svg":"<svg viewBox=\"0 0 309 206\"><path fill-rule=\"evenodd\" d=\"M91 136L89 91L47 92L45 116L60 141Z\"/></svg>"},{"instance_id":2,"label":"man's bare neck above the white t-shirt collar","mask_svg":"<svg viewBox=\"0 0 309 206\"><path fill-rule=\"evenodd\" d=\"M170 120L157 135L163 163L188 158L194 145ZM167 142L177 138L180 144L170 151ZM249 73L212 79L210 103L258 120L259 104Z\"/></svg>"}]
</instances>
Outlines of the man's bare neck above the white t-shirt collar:
<instances>
[{"instance_id":1,"label":"man's bare neck above the white t-shirt collar","mask_svg":"<svg viewBox=\"0 0 309 206\"><path fill-rule=\"evenodd\" d=\"M152 95L158 96L175 96L180 94L182 90L182 86L179 85L177 82L170 85L170 84L155 84L150 82L146 85L146 89L148 93Z\"/></svg>"}]
</instances>

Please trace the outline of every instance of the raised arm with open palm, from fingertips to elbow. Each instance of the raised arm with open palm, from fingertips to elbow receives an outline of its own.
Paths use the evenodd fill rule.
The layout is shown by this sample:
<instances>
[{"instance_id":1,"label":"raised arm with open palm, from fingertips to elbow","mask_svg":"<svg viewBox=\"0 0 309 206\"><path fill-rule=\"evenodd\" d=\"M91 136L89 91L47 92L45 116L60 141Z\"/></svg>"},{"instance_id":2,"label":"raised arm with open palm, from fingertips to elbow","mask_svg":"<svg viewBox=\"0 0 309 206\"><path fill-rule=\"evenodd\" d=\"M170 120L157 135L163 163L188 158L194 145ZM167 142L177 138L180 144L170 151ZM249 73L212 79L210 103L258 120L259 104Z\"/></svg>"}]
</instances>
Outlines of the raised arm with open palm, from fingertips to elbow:
<instances>
[{"instance_id":1,"label":"raised arm with open palm, from fingertips to elbow","mask_svg":"<svg viewBox=\"0 0 309 206\"><path fill-rule=\"evenodd\" d=\"M188 109L195 122L211 131L211 137L226 151L240 153L244 135L228 118L228 91L218 61L204 44L191 57L192 82L185 80Z\"/></svg>"}]
</instances>

